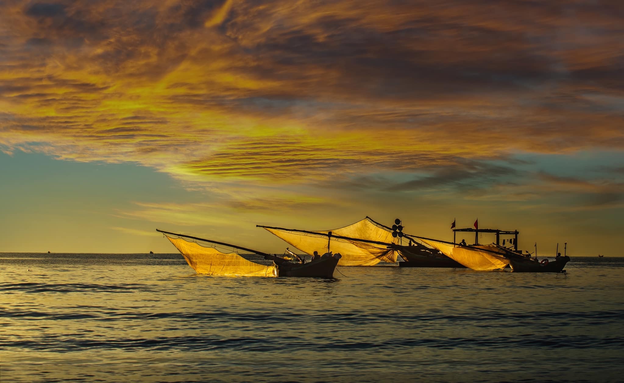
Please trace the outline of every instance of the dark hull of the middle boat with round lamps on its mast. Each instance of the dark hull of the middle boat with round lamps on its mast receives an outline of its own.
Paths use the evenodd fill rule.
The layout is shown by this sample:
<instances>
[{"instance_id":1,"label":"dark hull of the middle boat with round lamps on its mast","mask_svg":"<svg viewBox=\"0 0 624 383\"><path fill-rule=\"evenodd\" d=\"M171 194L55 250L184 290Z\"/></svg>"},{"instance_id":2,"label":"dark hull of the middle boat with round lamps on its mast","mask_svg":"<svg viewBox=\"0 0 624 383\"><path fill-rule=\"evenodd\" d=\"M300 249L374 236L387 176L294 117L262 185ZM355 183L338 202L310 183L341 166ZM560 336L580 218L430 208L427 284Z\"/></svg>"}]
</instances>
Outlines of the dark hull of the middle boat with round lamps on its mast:
<instances>
[{"instance_id":1,"label":"dark hull of the middle boat with round lamps on its mast","mask_svg":"<svg viewBox=\"0 0 624 383\"><path fill-rule=\"evenodd\" d=\"M366 217L366 219L371 220L376 225L383 227L388 230L391 234L392 232L396 232L397 237L406 238L409 240L408 245L397 244L394 249L401 255L401 258L404 260L399 262L399 267L442 267L442 268L465 268L466 266L461 263L452 260L447 257L439 250L427 247L423 244L419 244L414 239L409 239L405 234L402 233L402 226L400 219L396 219L394 222L396 223L392 227L380 224L379 222L375 222L370 217ZM400 230L399 230L400 229ZM401 234L399 234L401 233Z\"/></svg>"}]
</instances>

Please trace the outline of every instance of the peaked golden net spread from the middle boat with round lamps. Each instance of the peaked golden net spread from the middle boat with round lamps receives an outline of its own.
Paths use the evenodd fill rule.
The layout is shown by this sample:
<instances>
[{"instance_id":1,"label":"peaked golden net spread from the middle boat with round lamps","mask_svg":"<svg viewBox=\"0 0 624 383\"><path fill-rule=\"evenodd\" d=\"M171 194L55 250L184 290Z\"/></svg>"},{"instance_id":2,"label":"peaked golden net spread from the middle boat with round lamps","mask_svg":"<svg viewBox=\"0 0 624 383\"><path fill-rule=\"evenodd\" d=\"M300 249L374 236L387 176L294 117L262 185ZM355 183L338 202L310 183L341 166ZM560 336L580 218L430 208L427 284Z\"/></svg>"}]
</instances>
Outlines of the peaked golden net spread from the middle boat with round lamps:
<instances>
[{"instance_id":1,"label":"peaked golden net spread from the middle boat with round lamps","mask_svg":"<svg viewBox=\"0 0 624 383\"><path fill-rule=\"evenodd\" d=\"M395 263L397 258L396 250L388 248L387 245L358 241L358 239L366 239L388 244L397 243L397 239L392 237L391 231L384 229L368 217L339 229L316 232L261 227L308 255L313 255L314 251L323 254L328 250L333 253L340 253L342 258L338 262L339 266L373 266L379 262ZM329 232L331 232L331 236L328 238ZM335 238L334 235L349 237L350 239Z\"/></svg>"}]
</instances>

